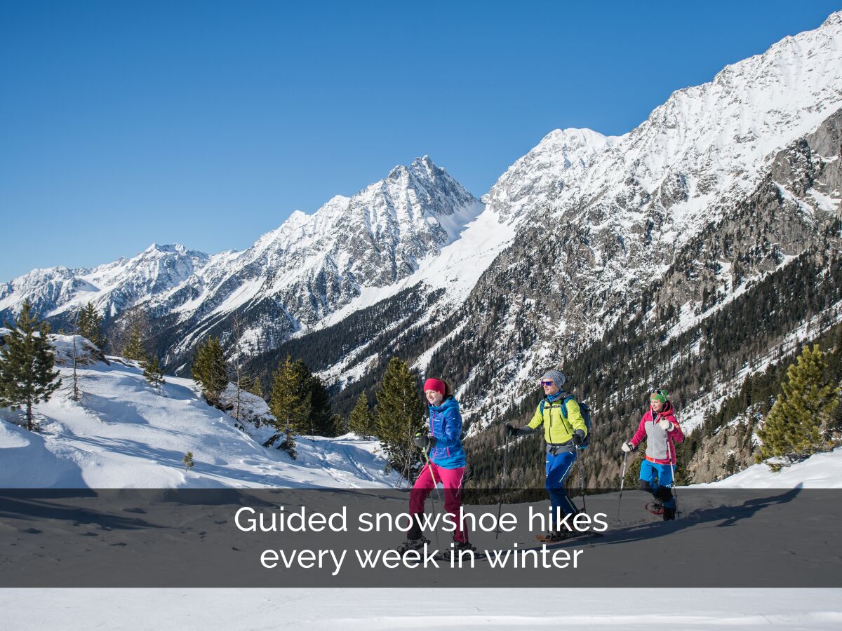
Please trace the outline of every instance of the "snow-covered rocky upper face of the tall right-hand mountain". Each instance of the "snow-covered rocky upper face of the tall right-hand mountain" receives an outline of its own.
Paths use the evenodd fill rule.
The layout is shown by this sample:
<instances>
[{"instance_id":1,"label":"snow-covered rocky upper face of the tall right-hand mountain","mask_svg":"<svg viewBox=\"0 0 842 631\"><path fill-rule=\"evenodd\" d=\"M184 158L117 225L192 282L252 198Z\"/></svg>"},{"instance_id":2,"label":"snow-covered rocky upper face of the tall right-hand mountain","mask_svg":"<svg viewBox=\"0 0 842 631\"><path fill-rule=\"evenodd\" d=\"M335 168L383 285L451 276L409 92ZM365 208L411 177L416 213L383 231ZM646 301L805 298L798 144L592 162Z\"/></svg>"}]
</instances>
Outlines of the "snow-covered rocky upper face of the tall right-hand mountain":
<instances>
[{"instance_id":1,"label":"snow-covered rocky upper face of the tall right-hand mountain","mask_svg":"<svg viewBox=\"0 0 842 631\"><path fill-rule=\"evenodd\" d=\"M786 173L782 164L789 158L779 154L807 142L840 106L842 13L834 13L818 29L727 66L711 82L679 90L627 135L553 132L483 197L487 212L495 212L509 234L490 249L496 257L482 266L453 321L428 331L433 340L426 347L408 347L397 337L387 346L419 358L419 369L432 360L435 370L462 381L462 395L481 392L470 416L505 392L514 390L520 398L542 365L569 358L642 305L658 307L655 315L669 302L690 315L672 326L670 335L677 335L697 321L695 311L715 306L706 304L706 293L722 292L722 306L728 294L745 289L738 281L762 278L808 247L781 226L776 235L749 230L754 241L739 252L688 247L713 230L726 230L722 221L752 199L766 178L787 190L801 187L792 216L813 227L799 230L799 237L821 231L813 211L817 217L839 215L842 192L830 175L834 167L824 176L813 171L810 177L818 180L805 187ZM810 164L836 159L833 128L813 139ZM766 194L775 194L775 187ZM754 221L769 225L770 216L756 214ZM727 222L731 232L737 231L734 222L744 220ZM764 241L774 257L748 252ZM742 276L717 277L706 266L741 268ZM663 278L669 279L668 291L643 293ZM471 326L460 329L465 322ZM360 354L360 361L368 358ZM342 370L328 373L341 380L356 370L343 358Z\"/></svg>"}]
</instances>

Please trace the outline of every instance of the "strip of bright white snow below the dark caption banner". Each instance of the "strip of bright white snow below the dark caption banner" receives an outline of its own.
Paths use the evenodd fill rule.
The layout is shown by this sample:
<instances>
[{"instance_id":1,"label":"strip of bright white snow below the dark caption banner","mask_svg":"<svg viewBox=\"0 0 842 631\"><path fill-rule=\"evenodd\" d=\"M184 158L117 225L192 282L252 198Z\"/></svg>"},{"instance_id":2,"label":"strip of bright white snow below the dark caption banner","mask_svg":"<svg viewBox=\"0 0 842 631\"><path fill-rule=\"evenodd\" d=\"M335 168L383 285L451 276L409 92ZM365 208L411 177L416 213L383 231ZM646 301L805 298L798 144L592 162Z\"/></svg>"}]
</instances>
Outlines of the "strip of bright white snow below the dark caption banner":
<instances>
[{"instance_id":1,"label":"strip of bright white snow below the dark caption banner","mask_svg":"<svg viewBox=\"0 0 842 631\"><path fill-rule=\"evenodd\" d=\"M11 631L799 629L840 628L842 590L6 590L0 610Z\"/></svg>"}]
</instances>

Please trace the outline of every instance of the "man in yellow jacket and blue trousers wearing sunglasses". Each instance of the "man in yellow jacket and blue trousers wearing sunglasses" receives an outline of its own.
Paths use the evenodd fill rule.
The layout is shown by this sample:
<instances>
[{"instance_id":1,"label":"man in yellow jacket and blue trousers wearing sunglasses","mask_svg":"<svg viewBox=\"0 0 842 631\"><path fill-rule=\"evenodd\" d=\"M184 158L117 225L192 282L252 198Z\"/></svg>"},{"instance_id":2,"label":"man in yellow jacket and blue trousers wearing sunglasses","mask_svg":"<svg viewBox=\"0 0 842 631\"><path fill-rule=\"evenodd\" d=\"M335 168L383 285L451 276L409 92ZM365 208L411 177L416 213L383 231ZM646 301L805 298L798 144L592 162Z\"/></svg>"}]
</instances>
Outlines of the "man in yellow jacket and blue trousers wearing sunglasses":
<instances>
[{"instance_id":1,"label":"man in yellow jacket and blue trousers wearing sunglasses","mask_svg":"<svg viewBox=\"0 0 842 631\"><path fill-rule=\"evenodd\" d=\"M578 402L562 390L567 378L558 370L548 370L541 377L541 387L544 389L544 399L538 404L535 416L525 427L513 427L506 424L508 436L525 436L537 431L544 425L544 439L546 440L546 490L550 494L552 514L562 518L570 513L577 513L578 509L564 488L573 463L576 462L577 448L584 443L588 435ZM565 538L569 532L551 528L547 539L556 541Z\"/></svg>"}]
</instances>

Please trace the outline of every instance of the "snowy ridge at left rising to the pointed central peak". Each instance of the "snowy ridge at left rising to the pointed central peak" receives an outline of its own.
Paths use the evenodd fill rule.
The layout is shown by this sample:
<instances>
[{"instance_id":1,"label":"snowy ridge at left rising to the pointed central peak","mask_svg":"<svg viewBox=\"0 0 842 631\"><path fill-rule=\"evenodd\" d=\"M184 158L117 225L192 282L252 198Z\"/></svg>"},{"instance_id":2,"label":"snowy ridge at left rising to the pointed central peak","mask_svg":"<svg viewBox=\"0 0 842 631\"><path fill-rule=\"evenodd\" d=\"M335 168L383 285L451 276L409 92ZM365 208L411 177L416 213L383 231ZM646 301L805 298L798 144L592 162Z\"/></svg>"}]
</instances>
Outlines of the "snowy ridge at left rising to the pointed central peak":
<instances>
[{"instance_id":1,"label":"snowy ridge at left rising to the pointed central peak","mask_svg":"<svg viewBox=\"0 0 842 631\"><path fill-rule=\"evenodd\" d=\"M34 270L0 291L0 316L24 300L61 320L93 300L109 316L142 305L169 357L239 310L244 342L277 346L347 305L365 289L396 287L456 241L483 204L428 156L312 215L296 211L243 252L209 256L152 246L88 269ZM394 289L397 290L397 289Z\"/></svg>"}]
</instances>

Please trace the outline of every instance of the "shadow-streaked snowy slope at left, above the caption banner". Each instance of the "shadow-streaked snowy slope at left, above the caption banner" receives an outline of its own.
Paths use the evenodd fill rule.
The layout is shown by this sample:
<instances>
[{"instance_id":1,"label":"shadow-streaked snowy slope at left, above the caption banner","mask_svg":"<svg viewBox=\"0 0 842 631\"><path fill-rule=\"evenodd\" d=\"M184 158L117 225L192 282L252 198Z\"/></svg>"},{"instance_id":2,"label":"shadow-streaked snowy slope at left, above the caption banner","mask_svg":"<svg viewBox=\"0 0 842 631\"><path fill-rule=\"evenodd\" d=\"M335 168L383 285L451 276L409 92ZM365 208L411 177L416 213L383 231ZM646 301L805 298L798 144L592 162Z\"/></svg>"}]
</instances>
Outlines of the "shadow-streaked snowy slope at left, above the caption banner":
<instances>
[{"instance_id":1,"label":"shadow-streaked snowy slope at left, above the caption banner","mask_svg":"<svg viewBox=\"0 0 842 631\"><path fill-rule=\"evenodd\" d=\"M208 406L191 379L166 377L159 394L134 363L90 358L79 370L81 403L69 399L71 337L56 336L63 389L36 407L41 432L0 410L0 488L380 487L379 445L353 434L298 437L298 459L264 448L267 425L243 422ZM77 340L81 340L78 338ZM87 351L93 345L84 341ZM266 403L244 395L250 418L270 417ZM184 470L192 451L195 466Z\"/></svg>"}]
</instances>

